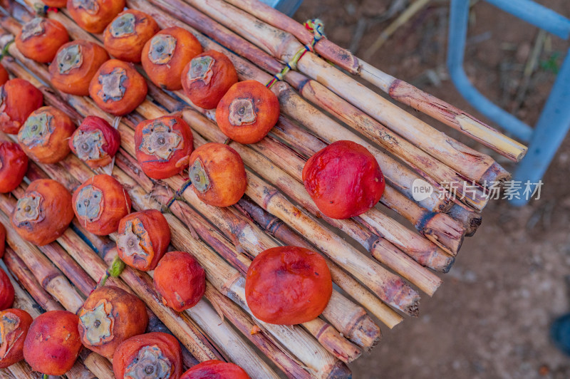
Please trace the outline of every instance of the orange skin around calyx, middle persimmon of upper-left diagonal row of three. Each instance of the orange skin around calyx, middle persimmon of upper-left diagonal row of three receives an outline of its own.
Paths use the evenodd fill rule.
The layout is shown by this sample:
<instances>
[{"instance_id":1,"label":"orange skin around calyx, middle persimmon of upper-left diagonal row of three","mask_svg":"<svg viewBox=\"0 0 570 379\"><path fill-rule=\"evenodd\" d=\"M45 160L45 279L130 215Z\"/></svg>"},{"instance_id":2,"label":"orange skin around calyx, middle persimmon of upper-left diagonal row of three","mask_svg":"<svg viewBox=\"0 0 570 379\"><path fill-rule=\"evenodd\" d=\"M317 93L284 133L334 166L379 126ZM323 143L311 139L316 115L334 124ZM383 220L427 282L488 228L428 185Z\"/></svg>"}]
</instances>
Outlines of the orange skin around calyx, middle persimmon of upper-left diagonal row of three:
<instances>
[{"instance_id":1,"label":"orange skin around calyx, middle persimmon of upper-left diagonal row of three","mask_svg":"<svg viewBox=\"0 0 570 379\"><path fill-rule=\"evenodd\" d=\"M58 71L57 58L58 53L68 46L78 44L83 54L83 63L81 66L72 68L68 73L60 73ZM81 39L68 42L61 46L49 65L49 75L51 84L64 93L71 95L88 96L89 83L99 67L109 60L109 54L104 48L96 43L83 41Z\"/></svg>"}]
</instances>

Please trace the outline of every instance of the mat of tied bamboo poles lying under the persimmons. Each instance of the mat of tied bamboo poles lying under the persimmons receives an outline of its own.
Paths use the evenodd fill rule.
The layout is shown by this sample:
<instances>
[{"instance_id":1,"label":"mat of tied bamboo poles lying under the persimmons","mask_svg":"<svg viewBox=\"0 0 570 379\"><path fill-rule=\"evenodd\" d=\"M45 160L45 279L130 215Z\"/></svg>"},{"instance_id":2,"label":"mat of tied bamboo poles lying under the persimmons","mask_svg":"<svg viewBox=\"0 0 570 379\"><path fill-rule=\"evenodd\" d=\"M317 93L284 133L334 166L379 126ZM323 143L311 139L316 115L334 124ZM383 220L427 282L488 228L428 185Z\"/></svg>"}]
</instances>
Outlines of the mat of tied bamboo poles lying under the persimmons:
<instances>
[{"instance_id":1,"label":"mat of tied bamboo poles lying under the persimmons","mask_svg":"<svg viewBox=\"0 0 570 379\"><path fill-rule=\"evenodd\" d=\"M442 283L435 271L450 269L463 238L479 226L488 200L485 187L509 178L489 155L414 118L323 58L512 160L526 152L526 147L467 113L378 71L326 39L315 44L314 52L304 54L297 71L289 71L284 81L271 87L279 98L281 116L271 133L255 144L228 141L212 111L196 107L180 91L167 93L150 82L150 98L115 120L90 98L51 88L47 66L24 58L9 44L20 23L38 9L37 0L25 0L25 4L12 4L9 11L14 17L0 21L1 47L13 57L4 58L4 66L12 76L36 85L48 105L63 110L76 123L88 115L117 121L121 148L113 176L128 190L134 209L165 212L173 232L172 248L191 251L207 273L204 299L183 313L160 302L152 287L152 272L127 268L120 279L110 279L145 301L149 331L170 331L179 339L186 348L185 367L216 358L239 363L252 378L276 378L276 368L289 378L348 377L346 363L380 340L374 318L393 328L403 320L400 313L418 314L418 290L430 296L435 292ZM226 54L240 80L268 83L313 38L304 26L257 0L128 0L127 5L150 14L162 28L187 29L204 50ZM100 35L83 31L65 9L47 16L66 26L71 38L102 44ZM247 166L248 187L238 204L212 207L186 190L165 209L185 178L177 175L155 181L146 177L135 159L133 135L141 120L168 113L187 121L195 147L226 142L239 152ZM306 160L337 140L365 146L388 182L382 206L353 219L324 217L301 181ZM70 155L53 165L31 164L26 181L51 177L73 192L91 176L93 171ZM435 191L415 202L413 183L419 179ZM14 198L25 188L22 183L12 196L0 196L0 222L9 224ZM462 196L450 197L451 189ZM382 207L398 212L411 228L389 217ZM90 234L74 220L56 242L38 248L9 231L4 262L18 281L16 305L28 309L37 303L46 311L76 311L117 254L117 236L109 237ZM277 326L257 320L249 311L244 274L254 256L280 244L318 251L331 269L338 291L333 291L327 308L314 321ZM25 363L9 368L16 377L30 370ZM90 378L90 373L113 377L108 360L96 353L82 353L81 362L68 376Z\"/></svg>"}]
</instances>

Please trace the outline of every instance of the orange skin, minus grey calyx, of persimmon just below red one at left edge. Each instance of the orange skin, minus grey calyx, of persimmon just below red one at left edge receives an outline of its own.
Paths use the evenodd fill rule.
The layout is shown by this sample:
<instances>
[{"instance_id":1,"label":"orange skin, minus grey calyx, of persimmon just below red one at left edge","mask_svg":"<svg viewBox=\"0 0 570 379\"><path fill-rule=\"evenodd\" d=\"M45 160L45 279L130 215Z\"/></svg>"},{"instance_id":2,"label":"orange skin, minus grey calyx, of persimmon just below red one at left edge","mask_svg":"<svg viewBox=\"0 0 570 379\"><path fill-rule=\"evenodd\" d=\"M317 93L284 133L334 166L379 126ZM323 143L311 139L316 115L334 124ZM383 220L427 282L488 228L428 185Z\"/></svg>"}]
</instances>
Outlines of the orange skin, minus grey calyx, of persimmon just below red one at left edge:
<instances>
[{"instance_id":1,"label":"orange skin, minus grey calyx, of persimmon just below red one at left edge","mask_svg":"<svg viewBox=\"0 0 570 379\"><path fill-rule=\"evenodd\" d=\"M61 237L73 220L71 194L66 187L51 179L34 180L28 185L24 196L30 192L38 192L43 197L40 209L44 218L40 222L16 222L14 216L17 209L14 207L11 224L20 237L32 244L43 246Z\"/></svg>"}]
</instances>

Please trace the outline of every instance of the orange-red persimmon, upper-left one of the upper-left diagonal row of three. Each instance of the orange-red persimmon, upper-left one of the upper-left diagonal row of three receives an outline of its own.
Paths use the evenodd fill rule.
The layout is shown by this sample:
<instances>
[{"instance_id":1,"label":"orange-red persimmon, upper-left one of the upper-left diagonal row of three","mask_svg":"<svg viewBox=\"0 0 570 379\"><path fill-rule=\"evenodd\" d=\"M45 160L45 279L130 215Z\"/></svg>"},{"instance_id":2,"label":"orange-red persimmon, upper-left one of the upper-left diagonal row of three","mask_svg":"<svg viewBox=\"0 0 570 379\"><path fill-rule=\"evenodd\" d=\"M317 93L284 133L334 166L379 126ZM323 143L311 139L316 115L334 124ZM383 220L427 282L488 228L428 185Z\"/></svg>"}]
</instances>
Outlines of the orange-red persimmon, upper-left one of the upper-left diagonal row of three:
<instances>
[{"instance_id":1,"label":"orange-red persimmon, upper-left one of the upper-left diagonal row of three","mask_svg":"<svg viewBox=\"0 0 570 379\"><path fill-rule=\"evenodd\" d=\"M16 47L26 58L50 63L69 35L59 21L36 17L26 22L16 36Z\"/></svg>"}]
</instances>

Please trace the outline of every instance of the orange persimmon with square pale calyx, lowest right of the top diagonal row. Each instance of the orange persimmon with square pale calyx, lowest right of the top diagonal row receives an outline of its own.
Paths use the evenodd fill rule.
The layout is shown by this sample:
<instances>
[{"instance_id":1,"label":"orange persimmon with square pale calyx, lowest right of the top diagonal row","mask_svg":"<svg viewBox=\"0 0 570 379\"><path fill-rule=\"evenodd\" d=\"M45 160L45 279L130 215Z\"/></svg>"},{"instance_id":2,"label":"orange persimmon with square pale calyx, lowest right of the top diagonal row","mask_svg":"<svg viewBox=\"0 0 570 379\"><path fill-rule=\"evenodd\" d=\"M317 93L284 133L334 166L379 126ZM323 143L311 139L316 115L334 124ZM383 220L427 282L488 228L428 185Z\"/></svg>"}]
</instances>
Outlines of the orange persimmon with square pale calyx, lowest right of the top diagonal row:
<instances>
[{"instance_id":1,"label":"orange persimmon with square pale calyx, lowest right of the top diagonal row","mask_svg":"<svg viewBox=\"0 0 570 379\"><path fill-rule=\"evenodd\" d=\"M216 108L224 135L239 143L259 142L279 120L277 96L258 81L232 85Z\"/></svg>"}]
</instances>

